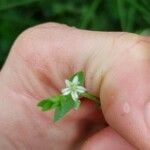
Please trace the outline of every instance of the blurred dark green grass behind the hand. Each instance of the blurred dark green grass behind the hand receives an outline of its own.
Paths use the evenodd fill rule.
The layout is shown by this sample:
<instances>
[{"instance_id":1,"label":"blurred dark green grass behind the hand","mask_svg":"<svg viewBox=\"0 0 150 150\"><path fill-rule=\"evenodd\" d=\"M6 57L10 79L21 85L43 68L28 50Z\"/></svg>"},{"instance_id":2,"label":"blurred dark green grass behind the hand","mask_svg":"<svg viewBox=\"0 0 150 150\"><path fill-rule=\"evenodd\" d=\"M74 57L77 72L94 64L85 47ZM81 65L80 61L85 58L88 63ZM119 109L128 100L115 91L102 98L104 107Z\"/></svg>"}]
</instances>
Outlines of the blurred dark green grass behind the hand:
<instances>
[{"instance_id":1,"label":"blurred dark green grass behind the hand","mask_svg":"<svg viewBox=\"0 0 150 150\"><path fill-rule=\"evenodd\" d=\"M23 30L49 21L150 35L150 0L0 0L0 67Z\"/></svg>"}]
</instances>

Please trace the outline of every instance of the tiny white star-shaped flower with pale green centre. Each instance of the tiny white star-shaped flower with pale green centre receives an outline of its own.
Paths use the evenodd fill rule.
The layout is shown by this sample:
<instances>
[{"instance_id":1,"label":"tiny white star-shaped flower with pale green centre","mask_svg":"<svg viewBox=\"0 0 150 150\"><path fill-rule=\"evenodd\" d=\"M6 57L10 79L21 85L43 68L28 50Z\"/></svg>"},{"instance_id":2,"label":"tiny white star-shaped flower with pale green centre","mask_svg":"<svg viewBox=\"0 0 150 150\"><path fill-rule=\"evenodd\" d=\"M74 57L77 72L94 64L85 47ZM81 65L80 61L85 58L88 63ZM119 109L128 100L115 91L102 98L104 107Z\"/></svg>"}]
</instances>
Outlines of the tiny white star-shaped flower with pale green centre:
<instances>
[{"instance_id":1,"label":"tiny white star-shaped flower with pale green centre","mask_svg":"<svg viewBox=\"0 0 150 150\"><path fill-rule=\"evenodd\" d=\"M80 86L78 76L75 76L72 81L65 80L66 88L62 89L63 95L71 94L71 97L74 101L78 100L79 93L84 93L86 88Z\"/></svg>"}]
</instances>

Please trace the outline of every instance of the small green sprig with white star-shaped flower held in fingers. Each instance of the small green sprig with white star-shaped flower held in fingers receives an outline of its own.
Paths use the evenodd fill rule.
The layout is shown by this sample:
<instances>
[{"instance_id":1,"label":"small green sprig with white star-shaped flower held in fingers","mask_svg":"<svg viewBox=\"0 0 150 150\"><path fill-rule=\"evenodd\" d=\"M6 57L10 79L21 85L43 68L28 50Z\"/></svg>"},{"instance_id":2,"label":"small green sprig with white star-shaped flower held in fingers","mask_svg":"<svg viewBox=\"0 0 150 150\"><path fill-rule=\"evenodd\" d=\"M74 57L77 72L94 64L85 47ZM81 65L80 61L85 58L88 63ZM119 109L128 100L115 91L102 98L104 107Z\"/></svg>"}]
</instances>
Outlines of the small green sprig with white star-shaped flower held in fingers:
<instances>
[{"instance_id":1,"label":"small green sprig with white star-shaped flower held in fingers","mask_svg":"<svg viewBox=\"0 0 150 150\"><path fill-rule=\"evenodd\" d=\"M83 71L73 74L69 79L65 80L66 87L61 90L61 94L50 96L41 100L37 106L42 111L55 109L54 122L60 120L71 109L77 110L80 107L80 98L85 97L96 102L100 106L98 97L90 94L84 87L85 76Z\"/></svg>"}]
</instances>

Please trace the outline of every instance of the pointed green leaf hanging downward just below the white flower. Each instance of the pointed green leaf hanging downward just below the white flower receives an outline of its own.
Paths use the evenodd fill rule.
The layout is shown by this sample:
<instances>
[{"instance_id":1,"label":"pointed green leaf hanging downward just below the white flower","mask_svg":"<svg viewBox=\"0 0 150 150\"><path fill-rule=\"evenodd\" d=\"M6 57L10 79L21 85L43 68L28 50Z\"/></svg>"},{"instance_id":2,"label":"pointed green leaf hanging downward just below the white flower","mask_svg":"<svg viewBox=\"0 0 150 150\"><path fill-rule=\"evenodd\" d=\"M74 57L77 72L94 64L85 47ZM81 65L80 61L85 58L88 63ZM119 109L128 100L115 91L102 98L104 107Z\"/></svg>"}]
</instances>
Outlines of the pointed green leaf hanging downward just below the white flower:
<instances>
[{"instance_id":1,"label":"pointed green leaf hanging downward just below the white flower","mask_svg":"<svg viewBox=\"0 0 150 150\"><path fill-rule=\"evenodd\" d=\"M57 106L54 113L54 122L60 120L64 115L69 112L70 109L74 108L74 102L70 96L61 96L60 105Z\"/></svg>"}]
</instances>

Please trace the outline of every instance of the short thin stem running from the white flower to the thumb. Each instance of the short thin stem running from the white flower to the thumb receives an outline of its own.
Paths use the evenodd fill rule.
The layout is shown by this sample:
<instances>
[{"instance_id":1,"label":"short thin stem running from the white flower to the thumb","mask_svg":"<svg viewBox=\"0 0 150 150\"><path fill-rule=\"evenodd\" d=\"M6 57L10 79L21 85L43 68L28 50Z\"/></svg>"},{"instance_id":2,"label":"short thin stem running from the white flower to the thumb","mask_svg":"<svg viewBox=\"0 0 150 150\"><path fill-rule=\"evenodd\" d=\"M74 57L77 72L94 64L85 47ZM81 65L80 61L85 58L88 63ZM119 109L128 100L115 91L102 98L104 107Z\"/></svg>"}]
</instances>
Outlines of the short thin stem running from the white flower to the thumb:
<instances>
[{"instance_id":1,"label":"short thin stem running from the white flower to the thumb","mask_svg":"<svg viewBox=\"0 0 150 150\"><path fill-rule=\"evenodd\" d=\"M100 99L99 99L97 96L92 95L92 94L90 94L90 93L88 93L88 92L82 93L81 96L82 96L82 97L85 97L85 98L88 98L89 100L94 101L94 102L97 104L97 106L100 107L100 105L101 105L101 104L100 104Z\"/></svg>"}]
</instances>

